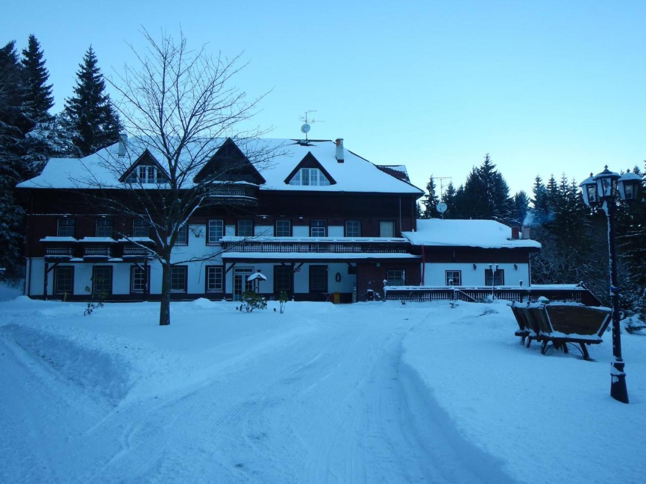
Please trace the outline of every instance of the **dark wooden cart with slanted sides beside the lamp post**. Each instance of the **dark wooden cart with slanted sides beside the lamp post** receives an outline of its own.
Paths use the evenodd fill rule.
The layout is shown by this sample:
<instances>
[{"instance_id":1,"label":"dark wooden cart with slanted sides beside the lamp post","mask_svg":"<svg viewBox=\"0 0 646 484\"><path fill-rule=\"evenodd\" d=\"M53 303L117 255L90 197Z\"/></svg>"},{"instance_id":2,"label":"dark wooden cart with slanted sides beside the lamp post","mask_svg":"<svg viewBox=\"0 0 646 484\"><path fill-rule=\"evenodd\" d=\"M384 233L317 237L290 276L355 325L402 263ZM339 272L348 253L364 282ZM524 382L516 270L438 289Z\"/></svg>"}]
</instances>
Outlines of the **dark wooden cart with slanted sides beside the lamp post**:
<instances>
[{"instance_id":1,"label":"dark wooden cart with slanted sides beside the lamp post","mask_svg":"<svg viewBox=\"0 0 646 484\"><path fill-rule=\"evenodd\" d=\"M567 353L567 343L579 345L584 359L590 359L585 345L598 345L610 323L612 310L605 307L590 307L577 303L549 303L546 299L537 303L511 303L518 323L516 336L521 345L529 348L532 340L541 343L541 353L548 345Z\"/></svg>"}]
</instances>

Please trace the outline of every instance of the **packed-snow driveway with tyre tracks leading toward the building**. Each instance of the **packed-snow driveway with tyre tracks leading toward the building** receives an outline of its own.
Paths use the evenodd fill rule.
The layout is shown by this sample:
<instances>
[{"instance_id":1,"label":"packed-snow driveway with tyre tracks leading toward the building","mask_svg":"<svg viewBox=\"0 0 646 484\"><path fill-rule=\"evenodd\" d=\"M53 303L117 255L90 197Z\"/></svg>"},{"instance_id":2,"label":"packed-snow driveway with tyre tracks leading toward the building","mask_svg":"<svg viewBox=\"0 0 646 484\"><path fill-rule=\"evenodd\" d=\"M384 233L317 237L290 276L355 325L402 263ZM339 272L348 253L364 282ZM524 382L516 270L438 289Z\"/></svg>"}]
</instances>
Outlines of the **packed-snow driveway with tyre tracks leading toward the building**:
<instances>
[{"instance_id":1,"label":"packed-snow driveway with tyre tracks leading toward the building","mask_svg":"<svg viewBox=\"0 0 646 484\"><path fill-rule=\"evenodd\" d=\"M52 380L47 368L32 368L33 379L21 391L42 392L52 413L3 408L24 414L25 427L45 432L25 438L25 447L49 449L49 454L23 452L33 473L22 474L22 480L508 482L486 456L480 468L466 461L474 453L465 453L463 443L456 445L445 423L435 421L442 416L429 411L428 396L415 394L411 376L400 374L402 338L425 319L439 317L436 312L409 310L397 320L378 306L363 305L320 314L315 323L218 362L203 378L187 385L174 381L170 392L160 387L154 396L127 398L112 410L58 399L51 385L70 385ZM10 338L0 342L3 364L37 366L21 348L12 347ZM25 368L16 368L16 374L25 374ZM41 420L29 421L32 414ZM70 421L70 432L42 445L51 427L42 419ZM467 469L479 470L479 476ZM65 472L67 478L61 479Z\"/></svg>"}]
</instances>

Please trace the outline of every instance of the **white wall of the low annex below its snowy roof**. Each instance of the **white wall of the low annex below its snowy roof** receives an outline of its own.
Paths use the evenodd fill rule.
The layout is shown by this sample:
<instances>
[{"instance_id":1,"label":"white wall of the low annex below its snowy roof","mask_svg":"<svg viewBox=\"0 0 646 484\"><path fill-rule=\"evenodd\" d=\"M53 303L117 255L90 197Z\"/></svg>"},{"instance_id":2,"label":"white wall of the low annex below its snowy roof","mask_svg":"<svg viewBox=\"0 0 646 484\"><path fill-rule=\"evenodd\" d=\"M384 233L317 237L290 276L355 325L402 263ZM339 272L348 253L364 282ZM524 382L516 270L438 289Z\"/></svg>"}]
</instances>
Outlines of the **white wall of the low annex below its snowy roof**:
<instances>
[{"instance_id":1,"label":"white wall of the low annex below its snowy roof","mask_svg":"<svg viewBox=\"0 0 646 484\"><path fill-rule=\"evenodd\" d=\"M492 261L495 263L495 261ZM523 286L529 285L529 265L517 263L514 268L512 263L499 263L498 268L505 270L505 285L517 286L518 281L523 281ZM424 268L424 285L425 286L444 286L446 285L445 270L461 271L463 286L484 286L485 269L489 265L484 263L473 264L454 264L454 263L426 263Z\"/></svg>"}]
</instances>

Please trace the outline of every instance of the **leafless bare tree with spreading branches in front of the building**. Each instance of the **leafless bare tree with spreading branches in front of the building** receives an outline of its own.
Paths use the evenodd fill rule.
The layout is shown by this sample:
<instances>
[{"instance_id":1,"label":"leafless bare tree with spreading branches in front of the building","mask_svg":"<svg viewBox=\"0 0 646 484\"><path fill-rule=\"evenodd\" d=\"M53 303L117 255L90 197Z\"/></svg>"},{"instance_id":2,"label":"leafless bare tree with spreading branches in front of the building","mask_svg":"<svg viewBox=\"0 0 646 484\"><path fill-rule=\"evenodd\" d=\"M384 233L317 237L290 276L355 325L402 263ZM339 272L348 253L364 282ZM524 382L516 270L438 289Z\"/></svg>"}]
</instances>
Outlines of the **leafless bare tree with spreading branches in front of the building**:
<instances>
[{"instance_id":1,"label":"leafless bare tree with spreading branches in front of the building","mask_svg":"<svg viewBox=\"0 0 646 484\"><path fill-rule=\"evenodd\" d=\"M168 325L172 265L218 255L171 261L178 237L196 212L230 203L231 197L223 194L232 192L224 188L245 187L240 177L231 175L242 169L240 160L230 156L231 150L242 147L247 168L266 165L276 150L258 139L262 133L257 129L240 130L264 97L246 101L245 93L231 86L231 78L245 66L240 65L240 55L227 59L207 54L204 47L189 50L183 34L175 41L162 33L157 41L146 30L142 33L146 50L130 46L137 65L125 66L107 79L121 95L115 106L128 137L119 150L99 153L107 153L101 154L101 165L111 174L107 179L119 180L121 190L92 170L85 185L100 188L92 190L93 197L108 210L141 219L151 228L154 245L125 232L123 236L161 264L160 325ZM234 147L223 152L227 143ZM221 154L218 163L213 161L216 153ZM143 163L142 157L143 166L152 168L132 170Z\"/></svg>"}]
</instances>

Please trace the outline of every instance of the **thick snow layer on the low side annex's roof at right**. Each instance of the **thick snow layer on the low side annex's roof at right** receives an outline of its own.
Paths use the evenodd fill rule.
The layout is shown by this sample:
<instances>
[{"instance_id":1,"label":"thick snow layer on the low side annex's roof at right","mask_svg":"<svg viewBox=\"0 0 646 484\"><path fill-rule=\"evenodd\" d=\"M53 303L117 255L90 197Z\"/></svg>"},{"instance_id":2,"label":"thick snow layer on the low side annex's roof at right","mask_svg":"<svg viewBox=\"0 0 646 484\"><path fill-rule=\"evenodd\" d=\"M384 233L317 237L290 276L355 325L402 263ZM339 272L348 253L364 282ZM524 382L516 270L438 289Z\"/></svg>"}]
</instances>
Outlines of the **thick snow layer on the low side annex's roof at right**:
<instances>
[{"instance_id":1,"label":"thick snow layer on the low side annex's roof at right","mask_svg":"<svg viewBox=\"0 0 646 484\"><path fill-rule=\"evenodd\" d=\"M535 240L510 239L512 229L495 220L417 221L417 232L402 232L413 245L479 247L479 248L541 248Z\"/></svg>"}]
</instances>

